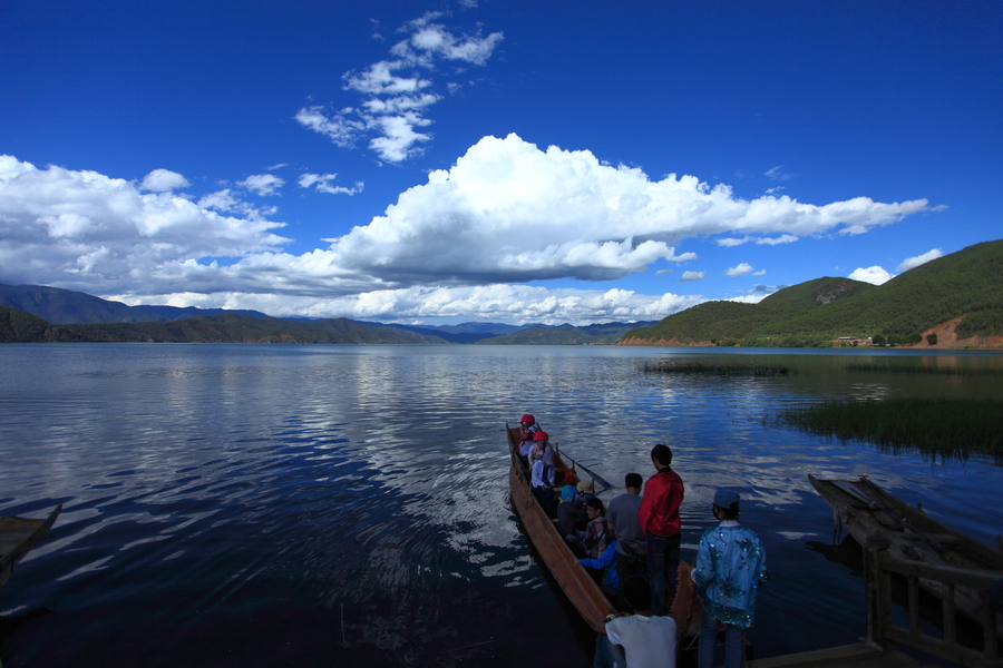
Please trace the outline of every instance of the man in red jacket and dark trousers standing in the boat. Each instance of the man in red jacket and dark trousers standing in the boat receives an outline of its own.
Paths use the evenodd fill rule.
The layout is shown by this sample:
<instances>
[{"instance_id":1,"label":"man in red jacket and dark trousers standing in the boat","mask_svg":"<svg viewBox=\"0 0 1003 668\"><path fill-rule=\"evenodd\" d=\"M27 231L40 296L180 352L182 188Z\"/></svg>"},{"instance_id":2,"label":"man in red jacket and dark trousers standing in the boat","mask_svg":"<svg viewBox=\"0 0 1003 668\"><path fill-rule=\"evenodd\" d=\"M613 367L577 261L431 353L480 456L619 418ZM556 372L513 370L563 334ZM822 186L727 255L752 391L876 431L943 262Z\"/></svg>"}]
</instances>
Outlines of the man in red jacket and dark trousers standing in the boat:
<instances>
[{"instance_id":1,"label":"man in red jacket and dark trousers standing in the boat","mask_svg":"<svg viewBox=\"0 0 1003 668\"><path fill-rule=\"evenodd\" d=\"M651 610L654 615L665 615L669 608L666 581L671 593L675 596L682 537L679 507L682 504L683 484L679 474L672 470L672 450L668 445L659 443L651 449L651 463L659 472L644 483L637 521L647 540Z\"/></svg>"}]
</instances>

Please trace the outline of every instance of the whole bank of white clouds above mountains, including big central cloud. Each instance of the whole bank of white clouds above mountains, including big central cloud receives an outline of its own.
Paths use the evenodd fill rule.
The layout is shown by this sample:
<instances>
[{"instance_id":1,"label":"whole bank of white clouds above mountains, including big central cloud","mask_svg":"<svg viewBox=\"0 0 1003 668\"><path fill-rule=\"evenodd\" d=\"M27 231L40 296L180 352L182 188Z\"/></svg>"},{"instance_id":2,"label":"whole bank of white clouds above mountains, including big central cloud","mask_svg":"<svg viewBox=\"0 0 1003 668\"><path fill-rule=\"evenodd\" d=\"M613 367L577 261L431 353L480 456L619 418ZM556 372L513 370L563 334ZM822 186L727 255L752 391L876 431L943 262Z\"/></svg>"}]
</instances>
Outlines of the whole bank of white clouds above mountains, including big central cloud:
<instances>
[{"instance_id":1,"label":"whole bank of white clouds above mountains, including big central cloud","mask_svg":"<svg viewBox=\"0 0 1003 668\"><path fill-rule=\"evenodd\" d=\"M298 183L341 194L362 187L338 186L335 176L304 174ZM249 177L241 187L267 193L281 187L280 180ZM604 164L587 150L541 149L516 135L483 138L449 169L435 170L427 183L401 193L382 215L348 232L332 230L323 245L300 254L286 252L291 239L275 234L283 226L269 219L276 209L255 207L241 193L225 188L197 199L149 193L120 178L38 169L2 156L0 282L133 303L142 295L148 297L145 303L169 298L193 305L260 304L276 314L349 315L369 313L357 302L397 308L415 295L524 296L530 293L513 284L617 279L659 261L697 259L695 253L676 249L693 237L777 240L847 225L869 229L926 208L926 200L883 204L866 197L824 205L772 196L747 200L693 176L653 180L639 168ZM752 271L743 263L730 273ZM662 317L689 299L538 289L544 292L532 294L549 294L564 308L546 312L554 318L572 313L593 313L595 320ZM624 304L613 306L617 299ZM266 308L272 301L295 311ZM539 303L545 310L552 302L541 297ZM421 304L407 306L407 315L434 311L427 301ZM349 305L350 311L335 310ZM470 317L480 313L491 307L477 306Z\"/></svg>"}]
</instances>

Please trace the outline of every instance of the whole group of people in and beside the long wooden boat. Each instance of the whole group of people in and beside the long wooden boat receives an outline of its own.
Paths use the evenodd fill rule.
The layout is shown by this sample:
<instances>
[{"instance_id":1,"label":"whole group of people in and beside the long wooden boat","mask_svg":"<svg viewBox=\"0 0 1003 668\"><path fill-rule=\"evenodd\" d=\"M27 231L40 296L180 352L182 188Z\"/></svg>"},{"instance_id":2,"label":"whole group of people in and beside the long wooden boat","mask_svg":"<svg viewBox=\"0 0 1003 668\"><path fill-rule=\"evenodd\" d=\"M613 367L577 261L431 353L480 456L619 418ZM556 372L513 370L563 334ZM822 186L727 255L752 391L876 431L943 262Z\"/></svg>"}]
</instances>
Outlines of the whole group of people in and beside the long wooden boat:
<instances>
[{"instance_id":1,"label":"whole group of people in and beside the long wooden boat","mask_svg":"<svg viewBox=\"0 0 1003 668\"><path fill-rule=\"evenodd\" d=\"M615 597L616 608L630 611L595 625L594 666L674 668L676 623L666 613L679 589L679 509L684 485L672 469L672 450L662 443L652 448L655 473L646 482L640 473L627 473L625 492L608 507L594 494L590 482L558 489L549 435L532 414L520 421L518 451L541 508L582 566ZM724 666L739 668L744 631L754 620L758 587L767 579L762 542L738 521L740 502L734 490L715 491L711 512L719 523L700 537L695 568L690 570L703 601L699 668L713 665L720 626L724 629Z\"/></svg>"}]
</instances>

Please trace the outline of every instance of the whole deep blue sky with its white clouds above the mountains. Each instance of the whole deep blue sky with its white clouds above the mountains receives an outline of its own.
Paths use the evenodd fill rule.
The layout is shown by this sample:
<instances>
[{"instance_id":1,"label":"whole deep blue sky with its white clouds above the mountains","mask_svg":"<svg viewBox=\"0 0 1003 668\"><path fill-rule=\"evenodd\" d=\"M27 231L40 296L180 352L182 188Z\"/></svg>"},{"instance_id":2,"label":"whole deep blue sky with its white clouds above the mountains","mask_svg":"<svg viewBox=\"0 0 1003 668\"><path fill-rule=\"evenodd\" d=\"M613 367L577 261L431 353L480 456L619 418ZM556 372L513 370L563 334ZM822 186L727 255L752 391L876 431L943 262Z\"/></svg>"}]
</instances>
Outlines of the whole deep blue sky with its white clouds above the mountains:
<instances>
[{"instance_id":1,"label":"whole deep blue sky with its white clouds above the mountains","mask_svg":"<svg viewBox=\"0 0 1003 668\"><path fill-rule=\"evenodd\" d=\"M0 283L660 320L1003 237L999 2L0 2Z\"/></svg>"}]
</instances>

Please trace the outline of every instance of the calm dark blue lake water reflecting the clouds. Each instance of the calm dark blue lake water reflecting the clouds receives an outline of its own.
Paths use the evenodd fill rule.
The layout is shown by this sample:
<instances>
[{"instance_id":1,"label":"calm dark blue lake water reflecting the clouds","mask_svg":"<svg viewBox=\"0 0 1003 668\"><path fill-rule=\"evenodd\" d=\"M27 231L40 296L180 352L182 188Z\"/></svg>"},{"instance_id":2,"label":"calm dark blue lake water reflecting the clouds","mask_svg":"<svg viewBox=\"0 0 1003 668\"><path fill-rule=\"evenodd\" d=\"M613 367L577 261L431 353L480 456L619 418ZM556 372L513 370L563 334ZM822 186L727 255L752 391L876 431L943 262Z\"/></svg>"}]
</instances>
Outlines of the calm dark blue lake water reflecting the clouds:
<instances>
[{"instance_id":1,"label":"calm dark blue lake water reflecting the clouds","mask_svg":"<svg viewBox=\"0 0 1003 668\"><path fill-rule=\"evenodd\" d=\"M844 370L876 355L1003 366L903 351L0 346L0 515L64 503L0 591L0 660L585 666L508 507L504 426L527 411L617 484L653 473L652 444L669 443L690 561L713 490L741 492L771 571L757 657L856 641L861 581L830 544L832 513L808 473L868 474L984 542L1003 533L992 462L762 425L778 407L837 396L1003 396L999 381ZM662 357L799 373L640 373Z\"/></svg>"}]
</instances>

